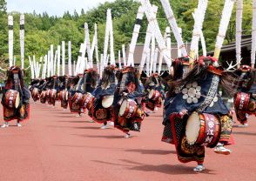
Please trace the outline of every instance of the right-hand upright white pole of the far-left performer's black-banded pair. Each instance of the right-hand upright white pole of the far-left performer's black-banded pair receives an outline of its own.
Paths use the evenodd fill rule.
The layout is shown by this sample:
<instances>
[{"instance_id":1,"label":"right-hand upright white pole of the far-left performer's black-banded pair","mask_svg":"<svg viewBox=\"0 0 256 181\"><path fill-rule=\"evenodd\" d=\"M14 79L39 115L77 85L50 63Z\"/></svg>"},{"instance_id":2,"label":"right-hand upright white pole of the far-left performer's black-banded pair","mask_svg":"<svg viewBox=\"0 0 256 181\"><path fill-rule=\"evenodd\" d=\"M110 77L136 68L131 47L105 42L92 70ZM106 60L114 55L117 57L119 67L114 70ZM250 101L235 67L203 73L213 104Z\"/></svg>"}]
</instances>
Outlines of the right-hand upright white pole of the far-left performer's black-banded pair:
<instances>
[{"instance_id":1,"label":"right-hand upright white pole of the far-left performer's black-banded pair","mask_svg":"<svg viewBox=\"0 0 256 181\"><path fill-rule=\"evenodd\" d=\"M24 14L20 16L20 57L21 57L21 69L24 70L24 47L25 47L25 31L24 31L25 17Z\"/></svg>"}]
</instances>

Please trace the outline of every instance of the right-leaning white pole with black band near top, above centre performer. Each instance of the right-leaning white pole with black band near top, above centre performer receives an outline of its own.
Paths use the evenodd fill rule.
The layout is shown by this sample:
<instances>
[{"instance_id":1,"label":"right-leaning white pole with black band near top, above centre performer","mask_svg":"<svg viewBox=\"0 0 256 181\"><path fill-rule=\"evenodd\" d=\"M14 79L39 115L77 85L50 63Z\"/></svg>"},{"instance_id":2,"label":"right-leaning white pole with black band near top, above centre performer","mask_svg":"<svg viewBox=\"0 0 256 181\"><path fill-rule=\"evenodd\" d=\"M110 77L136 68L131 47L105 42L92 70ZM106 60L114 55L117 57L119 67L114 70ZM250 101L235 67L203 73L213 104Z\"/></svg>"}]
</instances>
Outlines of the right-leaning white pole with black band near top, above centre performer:
<instances>
[{"instance_id":1,"label":"right-leaning white pole with black band near top, above centre performer","mask_svg":"<svg viewBox=\"0 0 256 181\"><path fill-rule=\"evenodd\" d=\"M134 66L134 51L135 47L138 41L138 33L141 27L142 19L143 19L143 8L142 6L138 7L138 14L137 14L137 19L136 23L133 29L132 37L131 37L131 44L129 46L129 55L128 55L128 66Z\"/></svg>"}]
</instances>

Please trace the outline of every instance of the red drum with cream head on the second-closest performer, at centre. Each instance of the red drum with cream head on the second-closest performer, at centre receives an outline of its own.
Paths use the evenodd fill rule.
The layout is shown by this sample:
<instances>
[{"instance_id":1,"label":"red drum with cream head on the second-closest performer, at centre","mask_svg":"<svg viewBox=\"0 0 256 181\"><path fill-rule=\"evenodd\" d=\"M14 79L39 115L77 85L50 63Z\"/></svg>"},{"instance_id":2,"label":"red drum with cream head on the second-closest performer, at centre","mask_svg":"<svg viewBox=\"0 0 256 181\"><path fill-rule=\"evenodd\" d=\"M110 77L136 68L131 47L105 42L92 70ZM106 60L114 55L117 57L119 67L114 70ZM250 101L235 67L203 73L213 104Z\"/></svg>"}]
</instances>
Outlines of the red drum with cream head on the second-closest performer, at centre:
<instances>
[{"instance_id":1,"label":"red drum with cream head on the second-closest performer, at centre","mask_svg":"<svg viewBox=\"0 0 256 181\"><path fill-rule=\"evenodd\" d=\"M137 110L138 105L134 100L124 99L119 110L119 116L131 118L136 114Z\"/></svg>"}]
</instances>

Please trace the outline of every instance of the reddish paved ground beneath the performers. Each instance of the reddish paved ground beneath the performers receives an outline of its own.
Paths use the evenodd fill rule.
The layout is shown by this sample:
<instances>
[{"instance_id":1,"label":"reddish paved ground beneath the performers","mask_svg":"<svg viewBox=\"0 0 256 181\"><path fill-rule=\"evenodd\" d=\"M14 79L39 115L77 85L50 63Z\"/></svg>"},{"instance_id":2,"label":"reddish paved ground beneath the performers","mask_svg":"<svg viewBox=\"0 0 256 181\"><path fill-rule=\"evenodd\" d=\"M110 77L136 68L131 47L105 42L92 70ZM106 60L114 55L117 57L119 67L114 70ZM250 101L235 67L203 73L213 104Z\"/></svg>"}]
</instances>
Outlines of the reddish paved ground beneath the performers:
<instances>
[{"instance_id":1,"label":"reddish paved ground beneath the performers","mask_svg":"<svg viewBox=\"0 0 256 181\"><path fill-rule=\"evenodd\" d=\"M232 155L207 149L205 172L194 173L195 164L179 163L174 146L161 143L160 112L145 119L140 133L125 139L118 130L99 130L88 116L32 104L24 127L0 129L0 180L256 180L255 117L250 127L234 128Z\"/></svg>"}]
</instances>

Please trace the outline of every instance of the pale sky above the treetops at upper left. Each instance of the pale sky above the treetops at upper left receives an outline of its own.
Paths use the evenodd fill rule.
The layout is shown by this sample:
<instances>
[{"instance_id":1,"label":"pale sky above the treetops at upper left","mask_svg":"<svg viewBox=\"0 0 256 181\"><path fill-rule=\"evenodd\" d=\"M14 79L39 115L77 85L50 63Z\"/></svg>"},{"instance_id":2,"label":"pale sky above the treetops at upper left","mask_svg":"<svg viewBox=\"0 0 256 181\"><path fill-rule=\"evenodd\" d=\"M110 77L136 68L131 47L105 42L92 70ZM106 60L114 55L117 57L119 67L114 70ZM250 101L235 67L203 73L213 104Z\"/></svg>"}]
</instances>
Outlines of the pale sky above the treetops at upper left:
<instances>
[{"instance_id":1,"label":"pale sky above the treetops at upper left","mask_svg":"<svg viewBox=\"0 0 256 181\"><path fill-rule=\"evenodd\" d=\"M69 10L71 14L77 10L80 14L82 8L90 10L98 6L99 3L113 2L114 0L7 0L7 10L30 12L36 10L37 13L46 11L49 15L63 16L64 11Z\"/></svg>"}]
</instances>

